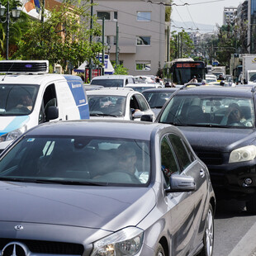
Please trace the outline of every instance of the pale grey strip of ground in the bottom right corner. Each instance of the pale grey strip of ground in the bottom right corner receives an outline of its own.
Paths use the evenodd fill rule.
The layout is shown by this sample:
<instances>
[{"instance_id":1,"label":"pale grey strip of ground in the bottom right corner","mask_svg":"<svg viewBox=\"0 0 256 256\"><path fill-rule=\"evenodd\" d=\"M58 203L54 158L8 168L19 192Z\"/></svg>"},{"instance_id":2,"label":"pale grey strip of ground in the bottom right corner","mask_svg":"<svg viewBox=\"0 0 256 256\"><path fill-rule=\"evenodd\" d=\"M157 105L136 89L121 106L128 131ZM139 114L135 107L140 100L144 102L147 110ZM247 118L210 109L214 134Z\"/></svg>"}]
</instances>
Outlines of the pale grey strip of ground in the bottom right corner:
<instances>
[{"instance_id":1,"label":"pale grey strip of ground in the bottom right corner","mask_svg":"<svg viewBox=\"0 0 256 256\"><path fill-rule=\"evenodd\" d=\"M249 229L249 231L240 239L235 248L228 256L252 255L256 251L256 223Z\"/></svg>"}]
</instances>

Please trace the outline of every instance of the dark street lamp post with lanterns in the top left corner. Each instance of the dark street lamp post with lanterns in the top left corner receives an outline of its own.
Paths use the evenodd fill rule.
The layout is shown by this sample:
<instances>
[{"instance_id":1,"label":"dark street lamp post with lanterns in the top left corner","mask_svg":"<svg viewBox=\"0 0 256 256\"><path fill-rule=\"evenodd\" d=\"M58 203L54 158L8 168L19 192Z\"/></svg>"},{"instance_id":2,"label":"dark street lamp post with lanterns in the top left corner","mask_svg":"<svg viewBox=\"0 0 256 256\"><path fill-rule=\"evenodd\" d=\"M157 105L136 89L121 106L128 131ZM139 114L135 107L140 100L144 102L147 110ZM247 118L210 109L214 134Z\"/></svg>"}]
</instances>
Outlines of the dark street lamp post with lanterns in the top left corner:
<instances>
[{"instance_id":1,"label":"dark street lamp post with lanterns in the top left corner","mask_svg":"<svg viewBox=\"0 0 256 256\"><path fill-rule=\"evenodd\" d=\"M6 17L4 20L2 18L4 17L5 11L6 12ZM6 59L8 59L8 54L9 54L9 30L10 30L10 22L14 23L15 21L11 21L11 13L12 17L15 19L15 21L20 17L21 14L21 7L13 7L12 12L9 10L9 1L7 1L7 8L2 5L0 2L0 22L5 23L7 22L7 50L6 50Z\"/></svg>"}]
</instances>

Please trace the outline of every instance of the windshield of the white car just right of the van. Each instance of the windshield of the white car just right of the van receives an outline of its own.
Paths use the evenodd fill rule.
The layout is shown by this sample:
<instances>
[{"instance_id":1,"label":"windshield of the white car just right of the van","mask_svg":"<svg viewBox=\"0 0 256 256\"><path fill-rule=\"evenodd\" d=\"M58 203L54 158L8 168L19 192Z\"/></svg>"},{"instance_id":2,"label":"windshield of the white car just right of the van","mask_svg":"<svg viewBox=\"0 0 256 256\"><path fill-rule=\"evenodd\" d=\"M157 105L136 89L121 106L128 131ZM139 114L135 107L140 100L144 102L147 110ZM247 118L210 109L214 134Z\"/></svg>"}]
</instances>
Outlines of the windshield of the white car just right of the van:
<instances>
[{"instance_id":1,"label":"windshield of the white car just right of the van","mask_svg":"<svg viewBox=\"0 0 256 256\"><path fill-rule=\"evenodd\" d=\"M126 97L88 95L89 110L91 116L113 115L125 116Z\"/></svg>"}]
</instances>

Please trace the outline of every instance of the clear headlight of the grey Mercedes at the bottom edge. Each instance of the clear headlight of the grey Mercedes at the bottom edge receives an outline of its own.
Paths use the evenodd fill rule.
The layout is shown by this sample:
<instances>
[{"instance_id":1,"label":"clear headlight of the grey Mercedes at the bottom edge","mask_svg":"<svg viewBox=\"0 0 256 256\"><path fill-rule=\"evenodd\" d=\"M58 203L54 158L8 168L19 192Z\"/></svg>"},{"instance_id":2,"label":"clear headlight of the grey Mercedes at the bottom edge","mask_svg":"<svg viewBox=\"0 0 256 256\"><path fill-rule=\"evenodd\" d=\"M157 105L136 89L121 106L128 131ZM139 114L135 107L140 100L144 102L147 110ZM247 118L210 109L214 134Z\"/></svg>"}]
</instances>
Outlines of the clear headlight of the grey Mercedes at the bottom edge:
<instances>
[{"instance_id":1,"label":"clear headlight of the grey Mercedes at the bottom edge","mask_svg":"<svg viewBox=\"0 0 256 256\"><path fill-rule=\"evenodd\" d=\"M132 256L138 254L144 231L129 227L94 243L92 256Z\"/></svg>"}]
</instances>

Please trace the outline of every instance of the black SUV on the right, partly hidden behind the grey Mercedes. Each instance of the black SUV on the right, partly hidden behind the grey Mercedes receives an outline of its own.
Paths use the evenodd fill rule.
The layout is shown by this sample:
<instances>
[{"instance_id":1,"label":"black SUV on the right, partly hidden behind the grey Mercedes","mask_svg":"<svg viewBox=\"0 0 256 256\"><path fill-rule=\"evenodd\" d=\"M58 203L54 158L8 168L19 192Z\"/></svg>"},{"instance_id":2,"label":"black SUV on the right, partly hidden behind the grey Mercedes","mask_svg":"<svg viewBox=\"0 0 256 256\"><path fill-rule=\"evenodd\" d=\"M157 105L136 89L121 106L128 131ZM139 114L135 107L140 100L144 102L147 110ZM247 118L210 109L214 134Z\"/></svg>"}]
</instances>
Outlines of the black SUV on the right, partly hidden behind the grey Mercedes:
<instances>
[{"instance_id":1,"label":"black SUV on the right, partly hidden behind the grey Mercedes","mask_svg":"<svg viewBox=\"0 0 256 256\"><path fill-rule=\"evenodd\" d=\"M246 201L256 213L254 88L183 88L157 122L183 131L207 165L217 197Z\"/></svg>"}]
</instances>

